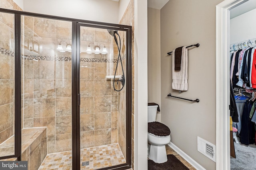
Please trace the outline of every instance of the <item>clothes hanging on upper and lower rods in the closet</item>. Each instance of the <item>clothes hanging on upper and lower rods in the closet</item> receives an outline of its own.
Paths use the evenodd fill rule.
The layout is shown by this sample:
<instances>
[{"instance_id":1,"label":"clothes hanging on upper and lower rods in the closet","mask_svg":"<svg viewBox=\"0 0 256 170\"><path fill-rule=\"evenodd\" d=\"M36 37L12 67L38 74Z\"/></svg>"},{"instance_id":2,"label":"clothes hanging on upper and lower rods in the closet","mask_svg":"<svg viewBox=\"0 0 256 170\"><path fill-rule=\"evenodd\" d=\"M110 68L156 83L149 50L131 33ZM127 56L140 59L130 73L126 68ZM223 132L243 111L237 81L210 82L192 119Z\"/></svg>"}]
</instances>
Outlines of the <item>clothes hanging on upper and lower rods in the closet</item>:
<instances>
[{"instance_id":1,"label":"clothes hanging on upper and lower rods in the closet","mask_svg":"<svg viewBox=\"0 0 256 170\"><path fill-rule=\"evenodd\" d=\"M249 94L256 89L256 46L230 52L230 90L242 88ZM240 92L239 92L240 93ZM233 125L237 128L240 143L249 145L255 143L256 133L256 102L244 95L234 96L230 91L230 116L233 113ZM238 117L234 116L234 103ZM255 104L255 105L254 105Z\"/></svg>"}]
</instances>

